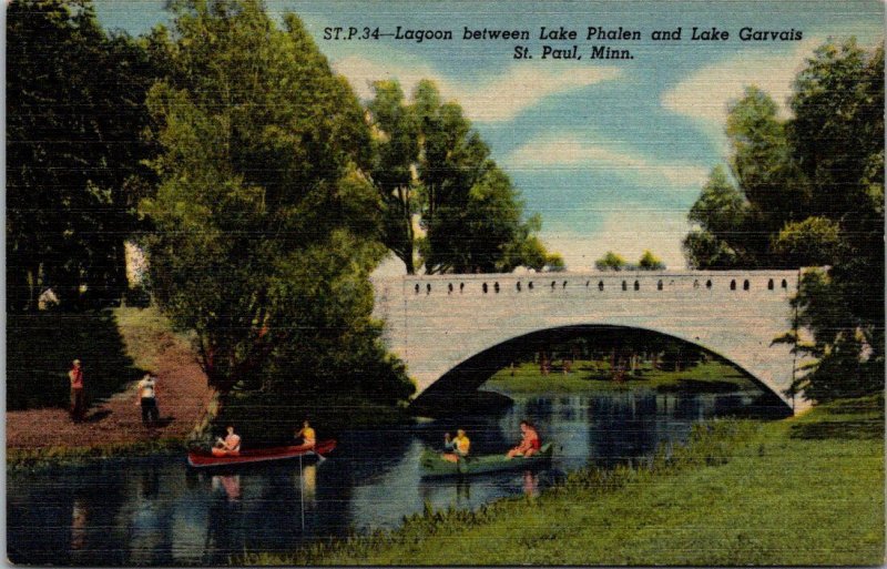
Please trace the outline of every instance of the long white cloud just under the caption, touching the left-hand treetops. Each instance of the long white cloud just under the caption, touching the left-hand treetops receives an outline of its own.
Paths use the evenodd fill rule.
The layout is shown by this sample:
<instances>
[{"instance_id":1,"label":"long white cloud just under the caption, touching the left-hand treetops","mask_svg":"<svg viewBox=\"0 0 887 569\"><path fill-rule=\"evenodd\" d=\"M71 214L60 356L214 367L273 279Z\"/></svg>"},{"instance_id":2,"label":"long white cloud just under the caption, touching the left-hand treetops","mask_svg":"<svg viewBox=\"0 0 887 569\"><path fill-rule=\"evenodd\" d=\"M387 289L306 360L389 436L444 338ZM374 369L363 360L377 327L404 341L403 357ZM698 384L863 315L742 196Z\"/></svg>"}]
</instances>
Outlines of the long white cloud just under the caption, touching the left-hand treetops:
<instances>
[{"instance_id":1,"label":"long white cloud just under the caption, touching the left-hand treetops","mask_svg":"<svg viewBox=\"0 0 887 569\"><path fill-rule=\"evenodd\" d=\"M349 55L334 63L334 69L345 75L358 96L373 96L371 83L381 79L397 79L406 93L421 79L431 79L445 100L456 100L466 114L478 122L508 121L539 103L547 96L573 89L613 80L620 77L616 68L565 67L555 62L511 65L498 75L481 81L463 82L443 78L421 62L381 63L363 55Z\"/></svg>"}]
</instances>

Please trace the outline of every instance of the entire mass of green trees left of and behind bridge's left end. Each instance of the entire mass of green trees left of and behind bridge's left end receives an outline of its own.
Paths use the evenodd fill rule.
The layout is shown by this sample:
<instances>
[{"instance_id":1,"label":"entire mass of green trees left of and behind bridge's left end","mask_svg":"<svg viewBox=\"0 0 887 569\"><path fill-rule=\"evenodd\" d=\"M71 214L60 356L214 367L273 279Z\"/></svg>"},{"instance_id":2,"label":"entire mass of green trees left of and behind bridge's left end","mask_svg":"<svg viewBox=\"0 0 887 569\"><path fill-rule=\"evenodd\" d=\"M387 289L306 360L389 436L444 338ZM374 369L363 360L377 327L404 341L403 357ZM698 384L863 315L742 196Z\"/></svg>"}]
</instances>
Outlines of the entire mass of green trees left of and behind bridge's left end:
<instances>
[{"instance_id":1,"label":"entire mass of green trees left of and behind bridge's left end","mask_svg":"<svg viewBox=\"0 0 887 569\"><path fill-rule=\"evenodd\" d=\"M88 0L11 2L8 309L38 309L47 289L61 309L120 303L133 240L221 393L392 404L414 387L370 317L389 248L409 272L419 250L429 273L562 265L432 83L410 104L378 83L364 108L296 16L169 9L170 29L130 38Z\"/></svg>"}]
</instances>

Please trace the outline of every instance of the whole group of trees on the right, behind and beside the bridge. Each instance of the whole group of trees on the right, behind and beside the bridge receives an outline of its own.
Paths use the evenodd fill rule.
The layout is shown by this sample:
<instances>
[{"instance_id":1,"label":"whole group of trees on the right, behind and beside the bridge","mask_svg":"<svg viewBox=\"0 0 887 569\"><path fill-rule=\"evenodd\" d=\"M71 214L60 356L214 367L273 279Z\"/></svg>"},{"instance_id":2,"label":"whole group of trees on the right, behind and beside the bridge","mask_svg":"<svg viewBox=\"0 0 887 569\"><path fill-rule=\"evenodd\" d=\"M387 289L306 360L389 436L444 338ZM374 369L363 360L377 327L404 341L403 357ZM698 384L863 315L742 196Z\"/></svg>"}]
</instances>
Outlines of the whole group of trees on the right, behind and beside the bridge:
<instances>
[{"instance_id":1,"label":"whole group of trees on the right, behind and beside the bridge","mask_svg":"<svg viewBox=\"0 0 887 569\"><path fill-rule=\"evenodd\" d=\"M884 385L884 48L815 50L792 118L750 87L730 108L730 173L716 166L684 241L700 268L824 266L802 278L795 331L817 363L793 386L825 400ZM732 174L732 176L731 176Z\"/></svg>"}]
</instances>

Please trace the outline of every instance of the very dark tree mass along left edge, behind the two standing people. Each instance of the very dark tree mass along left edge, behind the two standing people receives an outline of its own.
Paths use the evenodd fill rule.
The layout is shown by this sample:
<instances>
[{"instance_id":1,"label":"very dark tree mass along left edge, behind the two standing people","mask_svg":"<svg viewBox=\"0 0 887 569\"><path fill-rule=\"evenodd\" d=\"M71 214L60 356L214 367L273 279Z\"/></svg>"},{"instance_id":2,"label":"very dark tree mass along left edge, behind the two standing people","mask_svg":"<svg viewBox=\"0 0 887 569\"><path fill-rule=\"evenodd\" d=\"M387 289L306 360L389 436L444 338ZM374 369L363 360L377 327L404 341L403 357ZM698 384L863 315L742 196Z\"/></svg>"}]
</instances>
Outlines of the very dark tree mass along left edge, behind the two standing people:
<instances>
[{"instance_id":1,"label":"very dark tree mass along left edge, behind the two standing people","mask_svg":"<svg viewBox=\"0 0 887 569\"><path fill-rule=\"evenodd\" d=\"M65 308L119 301L156 68L86 0L11 2L7 63L8 308L37 309L50 287Z\"/></svg>"}]
</instances>

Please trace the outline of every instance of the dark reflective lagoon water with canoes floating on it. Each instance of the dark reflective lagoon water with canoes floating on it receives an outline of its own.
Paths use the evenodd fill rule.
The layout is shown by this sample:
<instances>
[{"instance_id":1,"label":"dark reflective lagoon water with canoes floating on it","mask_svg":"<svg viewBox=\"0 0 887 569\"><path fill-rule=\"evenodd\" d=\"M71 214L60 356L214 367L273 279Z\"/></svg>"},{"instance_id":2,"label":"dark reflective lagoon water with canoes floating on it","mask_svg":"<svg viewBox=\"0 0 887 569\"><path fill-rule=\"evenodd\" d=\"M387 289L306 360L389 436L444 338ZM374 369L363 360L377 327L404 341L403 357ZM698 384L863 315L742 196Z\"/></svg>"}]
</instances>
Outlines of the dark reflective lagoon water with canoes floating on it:
<instances>
[{"instance_id":1,"label":"dark reflective lagoon water with canoes floating on it","mask_svg":"<svg viewBox=\"0 0 887 569\"><path fill-rule=\"evenodd\" d=\"M244 552L292 551L329 536L395 528L435 508L477 508L537 494L588 464L643 459L687 438L701 419L747 415L758 393L623 392L534 396L506 410L344 433L319 464L195 473L184 457L112 459L7 479L8 555L29 565L224 565ZM755 411L757 413L757 411ZM472 453L504 453L530 418L557 444L550 466L468 479L424 479L419 455L457 426ZM323 426L318 426L323 438Z\"/></svg>"}]
</instances>

